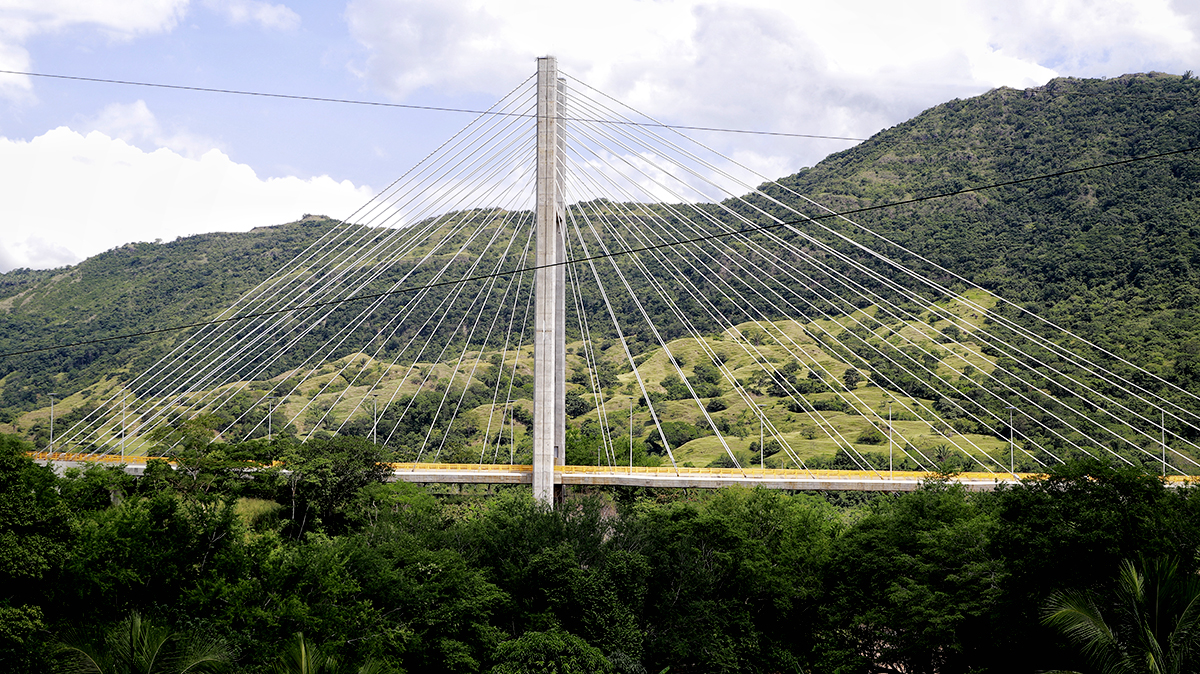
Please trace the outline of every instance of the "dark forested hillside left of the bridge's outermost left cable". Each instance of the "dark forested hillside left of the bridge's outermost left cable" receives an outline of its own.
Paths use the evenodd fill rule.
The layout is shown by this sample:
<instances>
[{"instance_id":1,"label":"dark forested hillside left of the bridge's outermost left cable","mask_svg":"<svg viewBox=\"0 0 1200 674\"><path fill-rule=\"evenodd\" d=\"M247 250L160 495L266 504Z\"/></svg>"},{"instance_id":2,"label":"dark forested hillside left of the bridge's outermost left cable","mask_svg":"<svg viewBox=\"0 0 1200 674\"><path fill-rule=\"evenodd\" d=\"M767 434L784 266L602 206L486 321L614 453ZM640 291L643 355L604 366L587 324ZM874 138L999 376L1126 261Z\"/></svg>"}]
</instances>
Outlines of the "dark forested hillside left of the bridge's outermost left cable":
<instances>
[{"instance_id":1,"label":"dark forested hillside left of the bridge's outermost left cable","mask_svg":"<svg viewBox=\"0 0 1200 674\"><path fill-rule=\"evenodd\" d=\"M55 270L0 273L0 351L22 351L212 318L329 227L307 217L244 234L127 243ZM101 378L152 363L175 335L114 341L0 362L0 410L47 404Z\"/></svg>"}]
</instances>

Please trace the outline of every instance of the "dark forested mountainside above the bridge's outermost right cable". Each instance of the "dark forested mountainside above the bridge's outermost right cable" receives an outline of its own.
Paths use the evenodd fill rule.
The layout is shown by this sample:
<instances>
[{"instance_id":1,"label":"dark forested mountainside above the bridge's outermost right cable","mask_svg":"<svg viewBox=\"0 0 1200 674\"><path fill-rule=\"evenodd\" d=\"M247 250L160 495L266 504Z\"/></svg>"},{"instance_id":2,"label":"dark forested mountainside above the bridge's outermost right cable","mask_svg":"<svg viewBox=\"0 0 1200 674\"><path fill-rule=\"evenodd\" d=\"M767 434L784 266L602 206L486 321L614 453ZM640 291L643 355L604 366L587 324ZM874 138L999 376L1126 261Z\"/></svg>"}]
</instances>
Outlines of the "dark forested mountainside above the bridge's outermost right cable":
<instances>
[{"instance_id":1,"label":"dark forested mountainside above the bridge's outermost right cable","mask_svg":"<svg viewBox=\"0 0 1200 674\"><path fill-rule=\"evenodd\" d=\"M997 89L931 108L766 192L847 211L1198 148L1198 103L1200 80L1163 73ZM854 218L1151 372L1200 385L1195 152Z\"/></svg>"}]
</instances>

